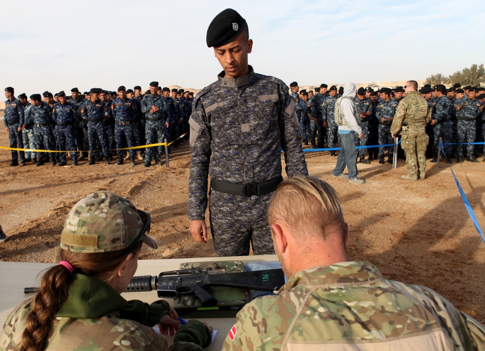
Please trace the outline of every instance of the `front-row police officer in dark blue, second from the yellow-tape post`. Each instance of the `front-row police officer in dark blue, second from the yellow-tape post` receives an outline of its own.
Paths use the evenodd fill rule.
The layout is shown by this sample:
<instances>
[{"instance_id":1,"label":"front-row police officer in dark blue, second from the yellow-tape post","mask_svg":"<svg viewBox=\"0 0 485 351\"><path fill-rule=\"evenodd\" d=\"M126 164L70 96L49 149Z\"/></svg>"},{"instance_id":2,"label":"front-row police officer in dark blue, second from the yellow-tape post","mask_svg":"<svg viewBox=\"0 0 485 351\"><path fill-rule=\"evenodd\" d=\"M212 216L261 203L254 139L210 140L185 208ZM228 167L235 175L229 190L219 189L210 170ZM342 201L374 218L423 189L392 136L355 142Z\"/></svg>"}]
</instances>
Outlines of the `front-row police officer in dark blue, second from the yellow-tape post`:
<instances>
[{"instance_id":1,"label":"front-row police officer in dark blue, second from the yellow-tape post","mask_svg":"<svg viewBox=\"0 0 485 351\"><path fill-rule=\"evenodd\" d=\"M115 122L114 137L116 138L118 149L123 145L123 139L126 139L129 148L136 146L132 123L135 108L133 100L126 97L125 86L121 85L118 87L118 97L111 103ZM116 154L118 155L118 162L116 162L116 165L123 165L123 150L117 150ZM129 149L129 160L133 166L136 165L135 154L136 152L134 149Z\"/></svg>"}]
</instances>

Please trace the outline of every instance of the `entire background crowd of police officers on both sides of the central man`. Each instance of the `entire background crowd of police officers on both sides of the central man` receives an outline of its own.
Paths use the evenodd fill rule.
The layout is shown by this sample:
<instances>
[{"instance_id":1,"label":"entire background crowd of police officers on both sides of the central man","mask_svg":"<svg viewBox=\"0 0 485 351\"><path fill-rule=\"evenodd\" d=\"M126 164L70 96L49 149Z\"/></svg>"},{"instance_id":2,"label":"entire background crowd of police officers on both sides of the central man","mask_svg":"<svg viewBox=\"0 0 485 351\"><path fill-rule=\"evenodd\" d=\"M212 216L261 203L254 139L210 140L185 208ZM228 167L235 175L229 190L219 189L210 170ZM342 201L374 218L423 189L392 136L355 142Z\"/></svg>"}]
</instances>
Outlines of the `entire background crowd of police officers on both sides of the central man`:
<instances>
[{"instance_id":1,"label":"entire background crowd of police officers on both sides of the central man","mask_svg":"<svg viewBox=\"0 0 485 351\"><path fill-rule=\"evenodd\" d=\"M300 137L305 145L312 148L335 148L339 144L338 126L335 122L335 101L343 93L336 85L328 88L321 84L313 90L300 90L296 82L290 84L291 96L295 99L295 112L300 123ZM442 138L446 162L452 158L463 162L464 150L467 161L478 162L475 157L483 153L485 134L485 88L465 86L459 83L450 88L439 84L426 84L419 92L428 101L431 122L426 126L430 138L426 156L437 161L439 138ZM188 120L192 113L194 94L183 89L160 87L151 82L150 89L142 93L140 86L126 89L120 86L117 91L92 88L80 93L72 88L70 96L64 91L53 95L46 91L33 94L30 101L26 94L15 98L12 87L5 88L4 124L9 133L11 148L36 150L70 150L73 165L88 157L89 165L104 159L106 164L113 160L114 152L117 165L129 159L132 165L135 158L144 160L144 166L151 162L162 164L163 146L129 149L126 158L121 148L132 148L165 140L175 142L178 148L188 140ZM363 138L357 139L358 145L379 145L376 148L361 148L357 154L359 162L371 163L379 160L384 164L393 162L393 144L390 125L399 101L405 97L402 86L393 89L381 87L360 87L355 98L356 108L361 117ZM180 135L187 133L184 138ZM463 143L463 144L462 144ZM456 145L460 144L460 145ZM79 154L78 154L79 152ZM169 147L171 152L171 147ZM365 156L368 154L368 158ZM336 156L336 150L330 150ZM399 157L405 158L400 150ZM55 166L67 164L64 152L34 152L12 150L10 166L24 166L34 162L41 166L49 162ZM485 155L484 155L485 161Z\"/></svg>"}]
</instances>

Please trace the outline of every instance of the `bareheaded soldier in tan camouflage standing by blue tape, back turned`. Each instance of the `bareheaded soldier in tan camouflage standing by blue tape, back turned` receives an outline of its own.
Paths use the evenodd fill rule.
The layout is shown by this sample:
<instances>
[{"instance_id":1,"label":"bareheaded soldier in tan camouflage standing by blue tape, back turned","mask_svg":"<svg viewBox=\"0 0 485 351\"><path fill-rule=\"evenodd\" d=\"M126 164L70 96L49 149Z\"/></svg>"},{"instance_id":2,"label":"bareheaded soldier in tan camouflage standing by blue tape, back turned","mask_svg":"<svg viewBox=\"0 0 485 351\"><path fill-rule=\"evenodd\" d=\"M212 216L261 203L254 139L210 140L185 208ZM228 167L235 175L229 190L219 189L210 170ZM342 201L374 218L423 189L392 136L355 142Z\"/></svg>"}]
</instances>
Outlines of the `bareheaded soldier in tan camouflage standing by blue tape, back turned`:
<instances>
[{"instance_id":1,"label":"bareheaded soldier in tan camouflage standing by blue tape, back turned","mask_svg":"<svg viewBox=\"0 0 485 351\"><path fill-rule=\"evenodd\" d=\"M418 83L408 81L404 86L406 97L399 102L392 120L392 137L401 134L401 145L406 151L407 180L424 179L426 173L426 146L428 135L425 127L431 119L428 102L417 91Z\"/></svg>"}]
</instances>

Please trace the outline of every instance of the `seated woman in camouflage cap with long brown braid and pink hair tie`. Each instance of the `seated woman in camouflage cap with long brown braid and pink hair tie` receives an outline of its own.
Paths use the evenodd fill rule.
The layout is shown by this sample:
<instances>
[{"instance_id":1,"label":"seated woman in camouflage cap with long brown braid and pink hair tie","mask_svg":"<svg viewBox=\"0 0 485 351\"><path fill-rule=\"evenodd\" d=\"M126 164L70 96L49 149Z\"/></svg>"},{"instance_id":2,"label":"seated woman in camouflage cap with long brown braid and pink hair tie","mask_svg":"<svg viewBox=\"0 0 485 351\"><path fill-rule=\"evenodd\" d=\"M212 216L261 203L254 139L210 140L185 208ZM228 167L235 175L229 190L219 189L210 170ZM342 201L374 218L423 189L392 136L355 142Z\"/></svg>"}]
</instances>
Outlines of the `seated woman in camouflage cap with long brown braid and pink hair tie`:
<instances>
[{"instance_id":1,"label":"seated woman in camouflage cap with long brown braid and pink hair tie","mask_svg":"<svg viewBox=\"0 0 485 351\"><path fill-rule=\"evenodd\" d=\"M40 292L7 317L1 350L198 350L211 328L197 320L178 327L166 301L126 301L120 293L137 267L150 215L113 193L97 191L77 202L61 234L61 261L42 277ZM48 302L46 302L48 301Z\"/></svg>"}]
</instances>

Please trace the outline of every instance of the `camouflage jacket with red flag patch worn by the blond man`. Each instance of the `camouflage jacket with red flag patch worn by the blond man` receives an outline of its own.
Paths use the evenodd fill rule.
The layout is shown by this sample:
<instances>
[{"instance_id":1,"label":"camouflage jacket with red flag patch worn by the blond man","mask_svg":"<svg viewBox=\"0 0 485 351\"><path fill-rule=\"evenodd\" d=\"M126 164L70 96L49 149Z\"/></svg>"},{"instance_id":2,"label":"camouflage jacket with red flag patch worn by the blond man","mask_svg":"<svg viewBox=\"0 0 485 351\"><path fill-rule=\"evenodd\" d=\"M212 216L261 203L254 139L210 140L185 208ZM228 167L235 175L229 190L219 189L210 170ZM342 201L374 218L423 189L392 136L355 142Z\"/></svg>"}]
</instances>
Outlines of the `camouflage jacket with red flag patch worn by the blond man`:
<instances>
[{"instance_id":1,"label":"camouflage jacket with red flag patch worn by the blond man","mask_svg":"<svg viewBox=\"0 0 485 351\"><path fill-rule=\"evenodd\" d=\"M296 272L245 305L224 350L483 350L485 327L419 285L368 262Z\"/></svg>"}]
</instances>

